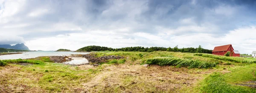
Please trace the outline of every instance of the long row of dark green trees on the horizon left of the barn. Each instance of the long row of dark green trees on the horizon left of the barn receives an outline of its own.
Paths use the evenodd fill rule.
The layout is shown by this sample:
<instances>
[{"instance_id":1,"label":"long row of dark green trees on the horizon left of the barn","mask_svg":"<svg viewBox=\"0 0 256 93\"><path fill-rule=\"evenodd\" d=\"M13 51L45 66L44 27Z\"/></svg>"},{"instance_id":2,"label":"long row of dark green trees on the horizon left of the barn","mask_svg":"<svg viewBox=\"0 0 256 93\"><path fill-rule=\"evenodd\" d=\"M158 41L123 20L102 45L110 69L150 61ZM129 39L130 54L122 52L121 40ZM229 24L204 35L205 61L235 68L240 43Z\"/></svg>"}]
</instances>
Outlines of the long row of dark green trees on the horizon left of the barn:
<instances>
[{"instance_id":1,"label":"long row of dark green trees on the horizon left of the barn","mask_svg":"<svg viewBox=\"0 0 256 93\"><path fill-rule=\"evenodd\" d=\"M142 46L136 46L136 47L124 47L124 48L110 48L105 46L85 46L81 49L76 50L78 52L84 51L84 52L91 52L91 51L139 51L139 52L153 52L153 51L169 51L169 52L191 52L191 53L208 53L212 54L212 50L204 49L201 45L198 46L198 48L178 48L178 45L174 48L166 48L166 47L142 47Z\"/></svg>"}]
</instances>

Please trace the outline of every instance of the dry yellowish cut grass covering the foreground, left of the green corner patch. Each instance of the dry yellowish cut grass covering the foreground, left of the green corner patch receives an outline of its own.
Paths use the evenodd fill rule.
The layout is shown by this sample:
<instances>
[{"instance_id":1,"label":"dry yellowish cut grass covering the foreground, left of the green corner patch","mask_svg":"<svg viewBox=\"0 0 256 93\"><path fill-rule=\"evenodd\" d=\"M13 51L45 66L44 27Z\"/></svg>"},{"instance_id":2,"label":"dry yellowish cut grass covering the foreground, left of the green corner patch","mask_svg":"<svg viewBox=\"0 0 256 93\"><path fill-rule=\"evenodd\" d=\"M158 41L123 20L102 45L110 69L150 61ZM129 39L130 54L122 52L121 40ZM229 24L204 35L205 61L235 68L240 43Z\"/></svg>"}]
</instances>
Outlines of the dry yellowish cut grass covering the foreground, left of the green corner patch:
<instances>
[{"instance_id":1,"label":"dry yellowish cut grass covering the foreground, left of the green corner patch","mask_svg":"<svg viewBox=\"0 0 256 93\"><path fill-rule=\"evenodd\" d=\"M184 87L194 87L203 79L204 74L214 70L199 70L175 67L141 65L111 65L102 64L99 67L91 65L69 66L58 64L67 70L49 69L56 67L54 63L46 66L20 66L9 64L0 67L0 93L6 92L72 92L72 93L147 93L147 92L181 92ZM62 69L63 69L62 68ZM32 69L35 69L33 71ZM49 70L45 73L44 70ZM60 68L61 70L61 68ZM62 72L62 73L59 73ZM63 73L73 73L73 76L62 78ZM47 76L52 76L48 81ZM70 75L71 76L71 75Z\"/></svg>"}]
</instances>

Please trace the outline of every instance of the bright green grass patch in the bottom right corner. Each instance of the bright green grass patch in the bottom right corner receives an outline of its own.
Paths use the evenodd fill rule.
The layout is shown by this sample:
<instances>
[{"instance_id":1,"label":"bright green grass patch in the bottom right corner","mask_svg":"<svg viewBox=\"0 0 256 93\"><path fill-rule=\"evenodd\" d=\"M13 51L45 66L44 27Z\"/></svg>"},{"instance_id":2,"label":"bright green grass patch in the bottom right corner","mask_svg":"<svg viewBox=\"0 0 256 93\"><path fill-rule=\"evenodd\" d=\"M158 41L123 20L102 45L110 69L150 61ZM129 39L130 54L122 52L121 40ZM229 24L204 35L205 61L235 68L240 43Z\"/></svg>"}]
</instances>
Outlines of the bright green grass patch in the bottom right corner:
<instances>
[{"instance_id":1,"label":"bright green grass patch in the bottom right corner","mask_svg":"<svg viewBox=\"0 0 256 93\"><path fill-rule=\"evenodd\" d=\"M213 73L202 82L201 91L205 93L255 93L255 88L235 85L256 81L255 70L256 64L251 64L232 68L231 73Z\"/></svg>"}]
</instances>

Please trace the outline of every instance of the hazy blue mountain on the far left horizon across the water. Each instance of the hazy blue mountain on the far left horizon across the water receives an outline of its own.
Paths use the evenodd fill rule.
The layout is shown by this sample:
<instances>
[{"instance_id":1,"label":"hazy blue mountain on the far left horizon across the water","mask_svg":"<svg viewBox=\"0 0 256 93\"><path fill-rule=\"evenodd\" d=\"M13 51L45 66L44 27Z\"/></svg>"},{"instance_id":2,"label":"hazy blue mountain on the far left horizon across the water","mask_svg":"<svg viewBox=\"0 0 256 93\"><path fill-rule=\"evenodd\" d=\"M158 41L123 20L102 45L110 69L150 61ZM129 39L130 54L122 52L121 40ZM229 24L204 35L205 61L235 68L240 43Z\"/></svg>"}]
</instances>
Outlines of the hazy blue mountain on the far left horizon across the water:
<instances>
[{"instance_id":1,"label":"hazy blue mountain on the far left horizon across the water","mask_svg":"<svg viewBox=\"0 0 256 93\"><path fill-rule=\"evenodd\" d=\"M29 50L28 46L25 44L16 44L14 46L11 46L9 44L2 44L0 45L0 48L6 48L6 49L18 49L18 50Z\"/></svg>"}]
</instances>

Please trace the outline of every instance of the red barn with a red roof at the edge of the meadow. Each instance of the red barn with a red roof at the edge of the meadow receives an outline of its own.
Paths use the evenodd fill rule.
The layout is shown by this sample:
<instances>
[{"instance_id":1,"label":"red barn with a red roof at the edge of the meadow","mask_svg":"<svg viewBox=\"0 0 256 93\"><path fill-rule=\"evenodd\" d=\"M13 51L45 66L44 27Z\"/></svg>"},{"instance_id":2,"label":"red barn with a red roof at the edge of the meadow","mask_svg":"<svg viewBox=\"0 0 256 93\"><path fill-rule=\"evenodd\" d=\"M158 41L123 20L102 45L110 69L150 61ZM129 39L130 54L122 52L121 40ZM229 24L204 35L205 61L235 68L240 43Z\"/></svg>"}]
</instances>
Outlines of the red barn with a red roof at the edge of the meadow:
<instances>
[{"instance_id":1,"label":"red barn with a red roof at the edge of the meadow","mask_svg":"<svg viewBox=\"0 0 256 93\"><path fill-rule=\"evenodd\" d=\"M228 51L230 51L230 56L240 56L239 51L234 50L231 44L214 47L214 49L212 50L212 54L225 55Z\"/></svg>"}]
</instances>

